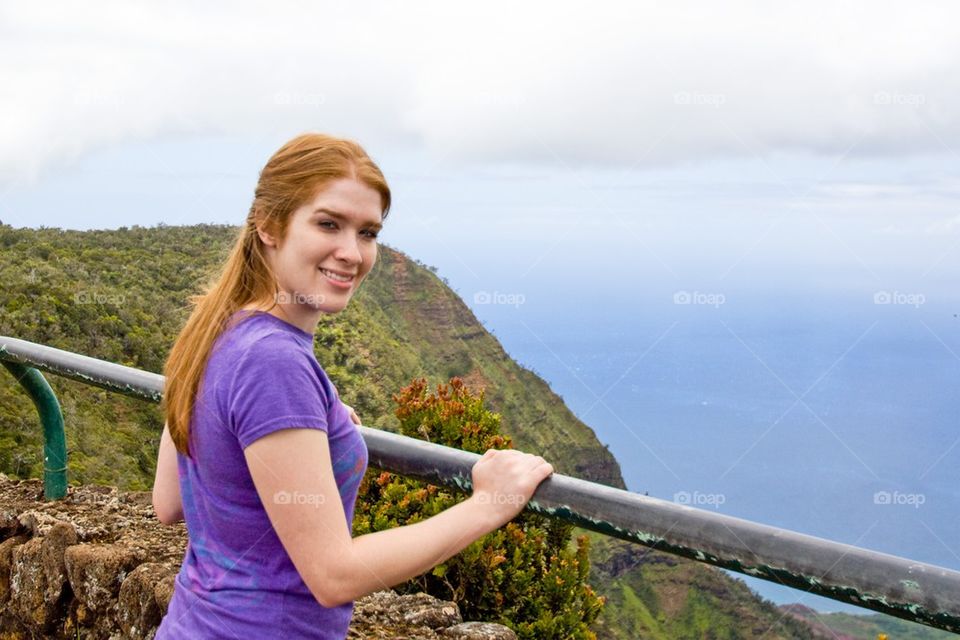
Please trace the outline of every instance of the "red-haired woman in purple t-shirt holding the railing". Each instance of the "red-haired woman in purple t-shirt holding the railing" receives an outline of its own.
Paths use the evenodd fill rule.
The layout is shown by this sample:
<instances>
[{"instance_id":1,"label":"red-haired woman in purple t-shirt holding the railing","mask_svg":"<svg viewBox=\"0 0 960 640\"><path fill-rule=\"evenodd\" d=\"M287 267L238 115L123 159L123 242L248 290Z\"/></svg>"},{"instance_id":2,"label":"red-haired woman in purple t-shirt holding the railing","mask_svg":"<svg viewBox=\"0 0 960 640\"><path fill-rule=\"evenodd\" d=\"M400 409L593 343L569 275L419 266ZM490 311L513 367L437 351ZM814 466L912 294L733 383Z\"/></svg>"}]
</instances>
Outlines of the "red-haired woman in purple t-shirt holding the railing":
<instances>
[{"instance_id":1,"label":"red-haired woman in purple t-shirt holding the railing","mask_svg":"<svg viewBox=\"0 0 960 640\"><path fill-rule=\"evenodd\" d=\"M539 456L487 451L470 498L351 537L367 449L313 331L370 272L389 207L383 174L348 140L301 135L263 168L165 367L153 505L161 522L185 519L189 543L158 640L344 638L353 600L504 525L553 472Z\"/></svg>"}]
</instances>

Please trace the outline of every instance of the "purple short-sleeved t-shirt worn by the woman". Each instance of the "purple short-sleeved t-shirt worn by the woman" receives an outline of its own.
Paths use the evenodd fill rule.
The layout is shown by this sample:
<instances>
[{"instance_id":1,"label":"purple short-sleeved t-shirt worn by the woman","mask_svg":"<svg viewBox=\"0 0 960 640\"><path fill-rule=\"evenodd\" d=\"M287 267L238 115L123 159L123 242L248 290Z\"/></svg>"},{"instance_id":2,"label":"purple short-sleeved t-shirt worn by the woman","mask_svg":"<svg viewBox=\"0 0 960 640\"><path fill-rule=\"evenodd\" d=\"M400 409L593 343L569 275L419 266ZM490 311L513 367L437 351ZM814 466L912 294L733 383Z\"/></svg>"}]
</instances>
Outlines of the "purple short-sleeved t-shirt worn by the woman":
<instances>
[{"instance_id":1,"label":"purple short-sleeved t-shirt worn by the woman","mask_svg":"<svg viewBox=\"0 0 960 640\"><path fill-rule=\"evenodd\" d=\"M327 432L347 523L367 447L313 355L313 336L268 313L238 312L217 338L177 455L188 544L157 640L341 640L353 603L326 608L280 543L243 450L288 428ZM322 544L318 539L317 544Z\"/></svg>"}]
</instances>

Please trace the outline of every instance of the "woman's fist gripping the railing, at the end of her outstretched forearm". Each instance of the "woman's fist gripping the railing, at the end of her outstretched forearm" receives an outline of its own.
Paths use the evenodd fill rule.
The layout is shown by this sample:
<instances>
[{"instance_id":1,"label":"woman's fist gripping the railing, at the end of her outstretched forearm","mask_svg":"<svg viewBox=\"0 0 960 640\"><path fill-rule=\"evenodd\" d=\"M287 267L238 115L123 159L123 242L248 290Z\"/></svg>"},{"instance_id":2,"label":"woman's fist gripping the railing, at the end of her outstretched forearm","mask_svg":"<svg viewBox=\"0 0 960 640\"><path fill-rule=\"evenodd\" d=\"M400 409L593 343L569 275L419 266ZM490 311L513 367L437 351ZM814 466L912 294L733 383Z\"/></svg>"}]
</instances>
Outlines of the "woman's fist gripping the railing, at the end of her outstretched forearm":
<instances>
[{"instance_id":1,"label":"woman's fist gripping the railing, at the end of her outstretched forearm","mask_svg":"<svg viewBox=\"0 0 960 640\"><path fill-rule=\"evenodd\" d=\"M531 453L488 449L473 465L473 498L490 509L499 526L512 520L553 473L553 465Z\"/></svg>"}]
</instances>

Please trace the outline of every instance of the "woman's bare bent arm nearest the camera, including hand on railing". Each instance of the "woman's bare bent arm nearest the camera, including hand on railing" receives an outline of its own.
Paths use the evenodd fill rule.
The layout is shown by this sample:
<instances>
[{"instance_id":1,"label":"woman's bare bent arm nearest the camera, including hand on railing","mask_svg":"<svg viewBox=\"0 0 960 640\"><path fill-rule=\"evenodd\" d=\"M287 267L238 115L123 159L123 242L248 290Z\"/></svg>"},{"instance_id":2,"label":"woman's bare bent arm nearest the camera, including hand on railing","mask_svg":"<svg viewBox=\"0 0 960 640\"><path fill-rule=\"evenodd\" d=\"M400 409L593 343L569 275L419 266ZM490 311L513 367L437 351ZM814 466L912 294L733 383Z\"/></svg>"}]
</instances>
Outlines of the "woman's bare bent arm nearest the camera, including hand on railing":
<instances>
[{"instance_id":1,"label":"woman's bare bent arm nearest the camera, including hand on railing","mask_svg":"<svg viewBox=\"0 0 960 640\"><path fill-rule=\"evenodd\" d=\"M543 458L488 451L473 495L436 516L352 538L333 477L327 434L275 431L245 450L280 541L317 601L334 607L400 584L509 522L553 472Z\"/></svg>"}]
</instances>

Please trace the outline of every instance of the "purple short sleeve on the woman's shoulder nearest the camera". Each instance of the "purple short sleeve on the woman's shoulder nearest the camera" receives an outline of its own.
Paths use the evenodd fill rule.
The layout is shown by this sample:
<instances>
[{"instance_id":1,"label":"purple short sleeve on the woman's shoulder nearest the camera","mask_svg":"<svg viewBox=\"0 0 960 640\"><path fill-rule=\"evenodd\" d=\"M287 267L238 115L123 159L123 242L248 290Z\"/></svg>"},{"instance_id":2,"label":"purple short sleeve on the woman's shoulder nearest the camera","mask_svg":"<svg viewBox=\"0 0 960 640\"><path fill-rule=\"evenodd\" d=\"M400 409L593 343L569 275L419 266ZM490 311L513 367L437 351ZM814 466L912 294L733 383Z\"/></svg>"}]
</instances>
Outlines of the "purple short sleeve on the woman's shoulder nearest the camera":
<instances>
[{"instance_id":1,"label":"purple short sleeve on the woman's shoulder nearest the camera","mask_svg":"<svg viewBox=\"0 0 960 640\"><path fill-rule=\"evenodd\" d=\"M313 354L284 334L257 340L237 364L227 411L246 449L259 438L294 427L327 431L327 392Z\"/></svg>"}]
</instances>

